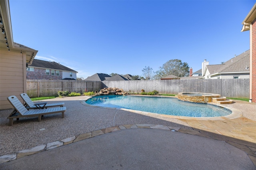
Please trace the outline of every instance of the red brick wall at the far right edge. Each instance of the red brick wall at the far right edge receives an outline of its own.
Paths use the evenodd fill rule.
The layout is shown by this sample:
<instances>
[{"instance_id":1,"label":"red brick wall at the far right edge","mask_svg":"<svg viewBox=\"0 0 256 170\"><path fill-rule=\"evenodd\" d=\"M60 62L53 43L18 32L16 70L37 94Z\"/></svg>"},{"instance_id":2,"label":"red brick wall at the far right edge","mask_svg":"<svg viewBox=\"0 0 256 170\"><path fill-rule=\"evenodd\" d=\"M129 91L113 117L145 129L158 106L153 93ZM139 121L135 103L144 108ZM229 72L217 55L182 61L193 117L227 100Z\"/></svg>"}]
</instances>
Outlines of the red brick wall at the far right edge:
<instances>
[{"instance_id":1,"label":"red brick wall at the far right edge","mask_svg":"<svg viewBox=\"0 0 256 170\"><path fill-rule=\"evenodd\" d=\"M256 103L256 19L252 22L252 102Z\"/></svg>"}]
</instances>

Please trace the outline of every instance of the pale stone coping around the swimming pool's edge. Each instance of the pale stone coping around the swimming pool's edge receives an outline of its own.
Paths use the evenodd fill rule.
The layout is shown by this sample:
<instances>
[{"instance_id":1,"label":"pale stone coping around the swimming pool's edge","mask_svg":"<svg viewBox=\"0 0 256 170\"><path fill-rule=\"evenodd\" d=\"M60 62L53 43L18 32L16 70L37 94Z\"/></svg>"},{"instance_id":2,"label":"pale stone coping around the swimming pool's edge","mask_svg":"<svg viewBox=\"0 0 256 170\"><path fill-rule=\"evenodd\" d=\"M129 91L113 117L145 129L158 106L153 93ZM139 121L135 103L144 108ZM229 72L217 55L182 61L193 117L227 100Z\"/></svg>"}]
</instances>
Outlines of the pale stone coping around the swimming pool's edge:
<instances>
[{"instance_id":1,"label":"pale stone coping around the swimming pool's edge","mask_svg":"<svg viewBox=\"0 0 256 170\"><path fill-rule=\"evenodd\" d=\"M174 96L144 96L144 95L130 95L130 96L142 96L142 97L169 97L169 98L176 98ZM220 117L187 117L187 116L176 116L176 115L164 115L164 114L159 114L159 113L152 113L152 112L147 112L147 111L140 111L140 110L133 110L133 109L124 109L124 108L117 108L117 107L101 107L101 106L93 106L90 104L87 104L86 101L89 100L94 96L88 96L84 100L81 100L80 103L84 106L90 106L90 107L98 107L98 108L105 108L105 109L117 109L117 110L125 110L125 111L130 111L132 113L138 113L142 115L148 115L148 116L160 116L160 117L167 117L167 118L175 118L175 119L194 119L194 120L225 120L225 119L236 119L238 117L241 117L243 115L242 111L235 109L232 106L224 106L223 104L216 104L212 102L208 102L207 104L210 104L212 106L216 107L222 107L226 108L230 111L232 111L231 114L226 115L226 116L220 116Z\"/></svg>"}]
</instances>

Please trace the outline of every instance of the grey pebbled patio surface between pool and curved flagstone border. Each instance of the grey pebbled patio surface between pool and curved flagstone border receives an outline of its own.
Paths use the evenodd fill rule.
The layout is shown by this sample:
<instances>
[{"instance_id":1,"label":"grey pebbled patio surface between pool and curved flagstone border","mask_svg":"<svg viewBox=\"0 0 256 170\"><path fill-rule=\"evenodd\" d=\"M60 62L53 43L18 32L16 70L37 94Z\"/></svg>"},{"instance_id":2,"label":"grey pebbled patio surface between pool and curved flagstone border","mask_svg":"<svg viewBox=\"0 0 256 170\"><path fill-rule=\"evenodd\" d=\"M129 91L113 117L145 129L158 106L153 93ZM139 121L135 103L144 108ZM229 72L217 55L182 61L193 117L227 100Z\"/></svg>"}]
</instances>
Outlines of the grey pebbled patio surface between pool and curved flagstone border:
<instances>
[{"instance_id":1,"label":"grey pebbled patio surface between pool and curved flagstone border","mask_svg":"<svg viewBox=\"0 0 256 170\"><path fill-rule=\"evenodd\" d=\"M0 156L114 125L140 123L192 129L174 118L149 117L119 109L84 106L80 102L85 98L76 96L44 100L48 103L64 102L67 111L63 119L61 113L56 113L45 115L40 122L37 117L20 118L9 126L7 117L12 109L0 110Z\"/></svg>"}]
</instances>

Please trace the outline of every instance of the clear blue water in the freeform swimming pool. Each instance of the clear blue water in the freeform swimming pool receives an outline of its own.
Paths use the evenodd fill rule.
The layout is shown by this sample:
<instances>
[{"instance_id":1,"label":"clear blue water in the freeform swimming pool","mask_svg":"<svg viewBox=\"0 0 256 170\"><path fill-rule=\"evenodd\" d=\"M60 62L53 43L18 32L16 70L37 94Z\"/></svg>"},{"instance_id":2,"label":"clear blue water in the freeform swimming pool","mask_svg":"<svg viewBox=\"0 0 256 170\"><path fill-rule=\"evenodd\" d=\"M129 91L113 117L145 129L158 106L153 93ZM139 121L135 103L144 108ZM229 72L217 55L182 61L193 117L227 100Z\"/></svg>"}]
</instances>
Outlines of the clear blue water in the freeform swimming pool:
<instances>
[{"instance_id":1,"label":"clear blue water in the freeform swimming pool","mask_svg":"<svg viewBox=\"0 0 256 170\"><path fill-rule=\"evenodd\" d=\"M142 96L95 96L87 104L101 107L115 107L188 117L218 117L231 111L209 104L182 102L176 98Z\"/></svg>"}]
</instances>

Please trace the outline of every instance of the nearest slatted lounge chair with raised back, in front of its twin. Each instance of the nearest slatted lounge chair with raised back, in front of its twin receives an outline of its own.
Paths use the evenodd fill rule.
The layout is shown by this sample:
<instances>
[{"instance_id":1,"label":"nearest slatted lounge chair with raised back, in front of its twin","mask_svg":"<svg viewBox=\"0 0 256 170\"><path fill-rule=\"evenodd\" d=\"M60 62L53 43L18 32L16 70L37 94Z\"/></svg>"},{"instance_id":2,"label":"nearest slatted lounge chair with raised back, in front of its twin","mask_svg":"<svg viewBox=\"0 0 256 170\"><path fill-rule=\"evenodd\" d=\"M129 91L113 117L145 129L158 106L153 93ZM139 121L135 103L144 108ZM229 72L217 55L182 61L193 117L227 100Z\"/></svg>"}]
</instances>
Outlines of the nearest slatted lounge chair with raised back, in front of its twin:
<instances>
[{"instance_id":1,"label":"nearest slatted lounge chair with raised back, in front of its twin","mask_svg":"<svg viewBox=\"0 0 256 170\"><path fill-rule=\"evenodd\" d=\"M18 120L20 117L35 117L38 116L38 121L41 121L42 115L48 115L53 113L62 113L62 118L64 118L64 112L66 107L53 107L49 109L33 109L27 110L25 106L18 100L16 96L9 96L7 100L14 107L14 111L9 115L9 125L13 124L13 119Z\"/></svg>"}]
</instances>

